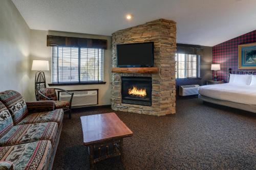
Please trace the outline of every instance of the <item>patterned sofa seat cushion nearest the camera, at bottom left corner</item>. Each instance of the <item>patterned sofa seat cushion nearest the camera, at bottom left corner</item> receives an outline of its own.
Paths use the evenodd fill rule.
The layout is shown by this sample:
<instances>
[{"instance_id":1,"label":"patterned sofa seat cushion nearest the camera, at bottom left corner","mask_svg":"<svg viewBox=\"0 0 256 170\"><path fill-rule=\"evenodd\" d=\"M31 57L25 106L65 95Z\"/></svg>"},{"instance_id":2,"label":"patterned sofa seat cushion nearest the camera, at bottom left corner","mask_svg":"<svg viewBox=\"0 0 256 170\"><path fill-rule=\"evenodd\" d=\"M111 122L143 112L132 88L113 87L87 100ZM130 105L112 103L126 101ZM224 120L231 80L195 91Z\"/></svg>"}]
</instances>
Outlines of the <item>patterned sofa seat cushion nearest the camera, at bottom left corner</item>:
<instances>
[{"instance_id":1,"label":"patterned sofa seat cushion nearest the camera, at bottom left corner","mask_svg":"<svg viewBox=\"0 0 256 170\"><path fill-rule=\"evenodd\" d=\"M51 152L49 140L0 147L0 161L12 162L14 169L47 169Z\"/></svg>"}]
</instances>

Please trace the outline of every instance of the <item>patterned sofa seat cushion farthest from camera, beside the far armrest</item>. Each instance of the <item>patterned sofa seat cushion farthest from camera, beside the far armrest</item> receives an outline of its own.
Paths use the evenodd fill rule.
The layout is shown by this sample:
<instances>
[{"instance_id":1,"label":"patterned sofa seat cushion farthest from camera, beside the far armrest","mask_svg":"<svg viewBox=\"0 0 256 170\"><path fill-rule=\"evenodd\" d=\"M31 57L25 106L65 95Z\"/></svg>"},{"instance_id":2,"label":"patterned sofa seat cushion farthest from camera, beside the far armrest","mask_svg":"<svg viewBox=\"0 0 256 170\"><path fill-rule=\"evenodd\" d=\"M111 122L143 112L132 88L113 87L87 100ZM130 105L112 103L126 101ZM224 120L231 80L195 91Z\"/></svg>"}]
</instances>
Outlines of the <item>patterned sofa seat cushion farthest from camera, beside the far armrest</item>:
<instances>
[{"instance_id":1,"label":"patterned sofa seat cushion farthest from camera, beside the far armrest","mask_svg":"<svg viewBox=\"0 0 256 170\"><path fill-rule=\"evenodd\" d=\"M41 112L29 114L25 117L19 125L24 124L35 124L35 123L44 123L44 122L56 122L58 126L63 119L63 109L56 109L50 112Z\"/></svg>"}]
</instances>

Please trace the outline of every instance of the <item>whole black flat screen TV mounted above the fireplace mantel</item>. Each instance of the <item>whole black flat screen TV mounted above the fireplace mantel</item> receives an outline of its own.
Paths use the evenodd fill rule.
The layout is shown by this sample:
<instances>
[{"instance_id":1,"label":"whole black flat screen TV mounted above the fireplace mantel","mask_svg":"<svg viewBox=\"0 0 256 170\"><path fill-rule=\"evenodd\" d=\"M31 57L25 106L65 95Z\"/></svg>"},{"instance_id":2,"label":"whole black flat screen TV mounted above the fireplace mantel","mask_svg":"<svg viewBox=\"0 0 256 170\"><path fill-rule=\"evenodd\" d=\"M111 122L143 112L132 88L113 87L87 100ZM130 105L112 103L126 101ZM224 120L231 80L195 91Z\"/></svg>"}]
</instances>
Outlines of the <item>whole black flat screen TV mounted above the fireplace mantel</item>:
<instances>
[{"instance_id":1,"label":"whole black flat screen TV mounted above the fireplace mantel","mask_svg":"<svg viewBox=\"0 0 256 170\"><path fill-rule=\"evenodd\" d=\"M153 67L154 42L117 45L117 67Z\"/></svg>"}]
</instances>

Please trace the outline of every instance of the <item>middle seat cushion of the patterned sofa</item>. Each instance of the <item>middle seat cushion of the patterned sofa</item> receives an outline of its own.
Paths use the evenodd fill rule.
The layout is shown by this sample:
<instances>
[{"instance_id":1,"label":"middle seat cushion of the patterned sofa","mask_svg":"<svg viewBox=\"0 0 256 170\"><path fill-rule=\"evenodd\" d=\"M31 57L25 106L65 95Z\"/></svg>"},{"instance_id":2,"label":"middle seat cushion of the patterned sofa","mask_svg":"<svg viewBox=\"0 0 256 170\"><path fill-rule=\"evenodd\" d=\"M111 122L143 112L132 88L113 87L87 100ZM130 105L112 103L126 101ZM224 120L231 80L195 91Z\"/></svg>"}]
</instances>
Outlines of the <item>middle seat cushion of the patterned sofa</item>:
<instances>
[{"instance_id":1,"label":"middle seat cushion of the patterned sofa","mask_svg":"<svg viewBox=\"0 0 256 170\"><path fill-rule=\"evenodd\" d=\"M0 146L28 143L38 140L50 140L52 144L56 138L58 124L56 122L17 125L0 139Z\"/></svg>"}]
</instances>

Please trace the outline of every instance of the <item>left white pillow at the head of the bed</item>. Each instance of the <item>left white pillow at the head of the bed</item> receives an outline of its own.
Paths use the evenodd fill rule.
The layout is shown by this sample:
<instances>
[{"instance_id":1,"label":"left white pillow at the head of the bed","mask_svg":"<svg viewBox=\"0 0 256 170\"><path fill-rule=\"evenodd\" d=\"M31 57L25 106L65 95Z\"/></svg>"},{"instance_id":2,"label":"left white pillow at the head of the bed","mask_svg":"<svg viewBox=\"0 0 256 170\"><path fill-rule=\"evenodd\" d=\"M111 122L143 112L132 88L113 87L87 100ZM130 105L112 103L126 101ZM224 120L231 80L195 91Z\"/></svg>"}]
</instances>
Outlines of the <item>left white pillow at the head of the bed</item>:
<instances>
[{"instance_id":1,"label":"left white pillow at the head of the bed","mask_svg":"<svg viewBox=\"0 0 256 170\"><path fill-rule=\"evenodd\" d=\"M250 85L251 75L230 74L229 83L235 85Z\"/></svg>"}]
</instances>

